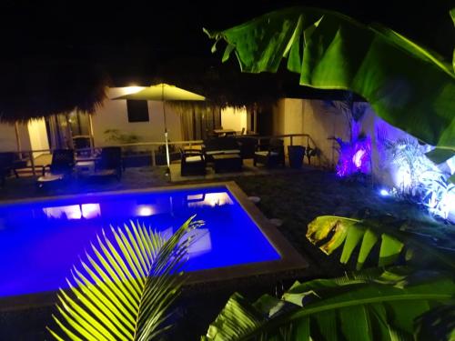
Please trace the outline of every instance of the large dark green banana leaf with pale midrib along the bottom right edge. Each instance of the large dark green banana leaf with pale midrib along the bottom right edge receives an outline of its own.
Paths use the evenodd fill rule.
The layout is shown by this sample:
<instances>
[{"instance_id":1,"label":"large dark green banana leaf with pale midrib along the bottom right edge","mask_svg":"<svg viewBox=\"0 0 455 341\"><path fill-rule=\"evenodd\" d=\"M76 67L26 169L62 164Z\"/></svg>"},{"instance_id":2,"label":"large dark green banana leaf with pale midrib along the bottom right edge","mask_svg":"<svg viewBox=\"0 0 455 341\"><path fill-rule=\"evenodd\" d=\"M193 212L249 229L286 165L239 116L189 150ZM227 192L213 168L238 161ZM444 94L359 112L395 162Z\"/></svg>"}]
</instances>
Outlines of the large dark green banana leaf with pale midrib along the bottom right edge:
<instances>
[{"instance_id":1,"label":"large dark green banana leaf with pale midrib along the bottom right edge","mask_svg":"<svg viewBox=\"0 0 455 341\"><path fill-rule=\"evenodd\" d=\"M449 277L378 269L297 282L282 299L254 304L236 293L202 340L411 339L416 317L454 294Z\"/></svg>"}]
</instances>

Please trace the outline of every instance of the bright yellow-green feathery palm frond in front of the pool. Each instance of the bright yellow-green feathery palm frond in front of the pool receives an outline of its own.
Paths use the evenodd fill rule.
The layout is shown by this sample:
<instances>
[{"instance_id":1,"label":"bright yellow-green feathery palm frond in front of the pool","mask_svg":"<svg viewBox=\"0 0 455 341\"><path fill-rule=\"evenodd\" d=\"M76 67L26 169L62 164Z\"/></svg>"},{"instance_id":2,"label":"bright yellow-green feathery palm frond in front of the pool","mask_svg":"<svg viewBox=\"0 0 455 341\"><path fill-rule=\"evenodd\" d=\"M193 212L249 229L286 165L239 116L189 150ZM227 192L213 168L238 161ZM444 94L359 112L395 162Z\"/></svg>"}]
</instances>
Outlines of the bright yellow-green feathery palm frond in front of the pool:
<instances>
[{"instance_id":1,"label":"bright yellow-green feathery palm frond in front of the pool","mask_svg":"<svg viewBox=\"0 0 455 341\"><path fill-rule=\"evenodd\" d=\"M177 298L184 279L179 271L187 256L192 219L166 239L146 226L111 227L111 241L103 231L94 256L74 269L70 290L60 289L54 316L58 340L149 340L167 329L167 309ZM63 333L62 333L63 331ZM62 336L64 335L64 336Z\"/></svg>"}]
</instances>

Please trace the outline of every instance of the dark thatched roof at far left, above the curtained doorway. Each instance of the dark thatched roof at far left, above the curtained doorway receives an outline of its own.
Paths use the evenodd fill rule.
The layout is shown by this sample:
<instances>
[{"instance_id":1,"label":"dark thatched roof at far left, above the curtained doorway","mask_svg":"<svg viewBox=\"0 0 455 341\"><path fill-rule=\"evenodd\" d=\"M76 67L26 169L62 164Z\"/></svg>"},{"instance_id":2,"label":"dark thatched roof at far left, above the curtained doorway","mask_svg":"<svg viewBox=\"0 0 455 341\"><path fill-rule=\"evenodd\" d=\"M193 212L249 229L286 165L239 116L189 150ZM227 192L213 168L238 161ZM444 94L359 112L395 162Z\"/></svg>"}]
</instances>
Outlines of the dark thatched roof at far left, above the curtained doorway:
<instances>
[{"instance_id":1,"label":"dark thatched roof at far left, above the curtained doorway","mask_svg":"<svg viewBox=\"0 0 455 341\"><path fill-rule=\"evenodd\" d=\"M0 67L0 121L27 121L78 110L94 113L108 77L98 65L34 58Z\"/></svg>"}]
</instances>

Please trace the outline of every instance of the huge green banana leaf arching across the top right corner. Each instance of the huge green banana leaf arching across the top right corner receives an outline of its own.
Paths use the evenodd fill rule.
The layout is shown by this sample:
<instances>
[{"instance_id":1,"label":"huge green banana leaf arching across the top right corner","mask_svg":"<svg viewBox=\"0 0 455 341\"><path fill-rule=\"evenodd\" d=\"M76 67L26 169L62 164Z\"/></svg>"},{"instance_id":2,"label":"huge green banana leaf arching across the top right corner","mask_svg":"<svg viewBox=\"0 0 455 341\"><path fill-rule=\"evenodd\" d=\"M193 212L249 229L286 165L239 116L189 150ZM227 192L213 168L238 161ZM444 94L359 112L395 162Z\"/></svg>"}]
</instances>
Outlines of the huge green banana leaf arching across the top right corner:
<instances>
[{"instance_id":1,"label":"huge green banana leaf arching across the top right corner","mask_svg":"<svg viewBox=\"0 0 455 341\"><path fill-rule=\"evenodd\" d=\"M453 12L452 12L453 15ZM455 150L455 74L439 55L381 25L346 15L291 7L224 31L207 31L227 43L243 72L288 70L299 84L362 95L389 124L441 150Z\"/></svg>"}]
</instances>

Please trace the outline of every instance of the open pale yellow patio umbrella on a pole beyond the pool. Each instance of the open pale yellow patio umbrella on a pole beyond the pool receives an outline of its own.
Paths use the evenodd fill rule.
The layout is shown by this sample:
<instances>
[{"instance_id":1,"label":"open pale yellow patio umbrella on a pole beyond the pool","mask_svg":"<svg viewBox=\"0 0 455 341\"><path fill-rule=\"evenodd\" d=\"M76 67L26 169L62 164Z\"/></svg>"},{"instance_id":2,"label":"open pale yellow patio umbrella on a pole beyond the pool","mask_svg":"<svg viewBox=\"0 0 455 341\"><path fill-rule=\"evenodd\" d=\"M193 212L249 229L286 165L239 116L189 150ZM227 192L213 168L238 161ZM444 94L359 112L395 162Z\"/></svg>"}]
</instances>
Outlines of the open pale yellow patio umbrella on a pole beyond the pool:
<instances>
[{"instance_id":1,"label":"open pale yellow patio umbrella on a pole beyond the pool","mask_svg":"<svg viewBox=\"0 0 455 341\"><path fill-rule=\"evenodd\" d=\"M197 95L190 91L184 90L175 85L161 83L151 85L143 90L133 94L122 95L113 99L129 99L129 100L146 100L146 101L161 101L163 103L163 118L165 122L165 144L166 144L166 160L169 167L169 147L167 144L167 125L166 125L166 105L168 101L205 101L206 97Z\"/></svg>"}]
</instances>

